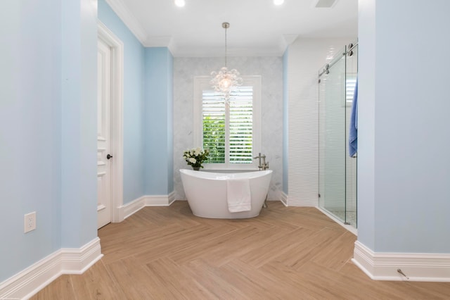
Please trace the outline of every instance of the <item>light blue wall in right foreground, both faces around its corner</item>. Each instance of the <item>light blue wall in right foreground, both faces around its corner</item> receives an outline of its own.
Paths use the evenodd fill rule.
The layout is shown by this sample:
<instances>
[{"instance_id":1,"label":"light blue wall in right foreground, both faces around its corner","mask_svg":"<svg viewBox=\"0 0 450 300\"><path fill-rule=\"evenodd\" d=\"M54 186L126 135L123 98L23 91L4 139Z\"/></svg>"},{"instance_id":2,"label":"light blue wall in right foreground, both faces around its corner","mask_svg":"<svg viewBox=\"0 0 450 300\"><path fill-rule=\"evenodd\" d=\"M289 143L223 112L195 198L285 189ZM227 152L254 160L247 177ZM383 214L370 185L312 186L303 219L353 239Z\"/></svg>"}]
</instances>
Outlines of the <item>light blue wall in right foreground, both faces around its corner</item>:
<instances>
[{"instance_id":1,"label":"light blue wall in right foreground, both faces around its corner","mask_svg":"<svg viewBox=\"0 0 450 300\"><path fill-rule=\"evenodd\" d=\"M432 2L359 1L358 239L375 252L450 253L450 2Z\"/></svg>"}]
</instances>

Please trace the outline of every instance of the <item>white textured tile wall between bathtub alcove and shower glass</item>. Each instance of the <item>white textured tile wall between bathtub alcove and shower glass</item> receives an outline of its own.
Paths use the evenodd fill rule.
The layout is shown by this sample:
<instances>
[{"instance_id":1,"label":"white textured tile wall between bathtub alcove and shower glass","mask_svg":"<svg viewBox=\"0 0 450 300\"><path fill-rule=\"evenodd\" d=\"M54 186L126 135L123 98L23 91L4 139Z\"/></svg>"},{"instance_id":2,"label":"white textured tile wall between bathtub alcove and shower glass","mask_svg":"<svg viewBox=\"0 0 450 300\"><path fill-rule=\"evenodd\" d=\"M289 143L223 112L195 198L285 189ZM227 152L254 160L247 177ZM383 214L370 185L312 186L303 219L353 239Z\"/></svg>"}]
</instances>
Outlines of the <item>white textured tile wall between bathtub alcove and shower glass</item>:
<instances>
[{"instance_id":1,"label":"white textured tile wall between bathtub alcove and shower glass","mask_svg":"<svg viewBox=\"0 0 450 300\"><path fill-rule=\"evenodd\" d=\"M318 206L317 70L349 40L297 39L288 53L288 205Z\"/></svg>"}]
</instances>

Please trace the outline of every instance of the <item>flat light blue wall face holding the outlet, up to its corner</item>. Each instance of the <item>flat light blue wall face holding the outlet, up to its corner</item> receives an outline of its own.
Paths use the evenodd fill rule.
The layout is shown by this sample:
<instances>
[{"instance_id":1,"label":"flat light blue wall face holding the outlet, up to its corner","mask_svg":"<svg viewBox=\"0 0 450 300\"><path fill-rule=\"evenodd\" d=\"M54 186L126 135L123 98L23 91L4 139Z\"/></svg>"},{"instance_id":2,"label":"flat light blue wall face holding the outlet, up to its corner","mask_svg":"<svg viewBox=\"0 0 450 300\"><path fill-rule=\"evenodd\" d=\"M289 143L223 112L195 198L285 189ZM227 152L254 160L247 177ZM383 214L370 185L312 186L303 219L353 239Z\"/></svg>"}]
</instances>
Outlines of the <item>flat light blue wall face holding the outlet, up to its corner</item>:
<instances>
[{"instance_id":1,"label":"flat light blue wall face holding the outlet, up to its corner","mask_svg":"<svg viewBox=\"0 0 450 300\"><path fill-rule=\"evenodd\" d=\"M60 33L54 1L0 5L0 282L60 246Z\"/></svg>"}]
</instances>

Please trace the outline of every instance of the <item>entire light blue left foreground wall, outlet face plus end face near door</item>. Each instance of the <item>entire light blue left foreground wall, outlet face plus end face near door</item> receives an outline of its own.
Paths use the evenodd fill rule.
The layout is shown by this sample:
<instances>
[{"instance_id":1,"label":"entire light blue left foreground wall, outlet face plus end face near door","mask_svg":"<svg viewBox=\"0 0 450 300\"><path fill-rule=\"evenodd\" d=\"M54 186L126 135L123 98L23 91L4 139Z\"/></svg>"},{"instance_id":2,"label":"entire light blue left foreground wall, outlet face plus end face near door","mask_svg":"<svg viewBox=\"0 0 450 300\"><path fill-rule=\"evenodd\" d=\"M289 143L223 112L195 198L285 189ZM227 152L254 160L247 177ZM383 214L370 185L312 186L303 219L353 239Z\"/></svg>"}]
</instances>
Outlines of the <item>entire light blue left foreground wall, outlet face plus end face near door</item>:
<instances>
[{"instance_id":1,"label":"entire light blue left foreground wall, outlet face plus end face near door","mask_svg":"<svg viewBox=\"0 0 450 300\"><path fill-rule=\"evenodd\" d=\"M0 36L1 282L96 237L96 6L3 1Z\"/></svg>"}]
</instances>

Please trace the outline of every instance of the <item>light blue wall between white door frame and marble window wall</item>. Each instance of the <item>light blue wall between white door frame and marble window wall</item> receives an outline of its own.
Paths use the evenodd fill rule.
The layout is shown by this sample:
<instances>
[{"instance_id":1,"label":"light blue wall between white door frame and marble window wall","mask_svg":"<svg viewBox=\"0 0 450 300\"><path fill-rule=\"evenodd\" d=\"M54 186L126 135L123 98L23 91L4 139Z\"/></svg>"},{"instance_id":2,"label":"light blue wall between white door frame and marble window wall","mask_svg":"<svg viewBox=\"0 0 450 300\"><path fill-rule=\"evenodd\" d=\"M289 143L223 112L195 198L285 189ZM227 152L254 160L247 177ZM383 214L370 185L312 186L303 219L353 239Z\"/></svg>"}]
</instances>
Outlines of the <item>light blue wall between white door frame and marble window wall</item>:
<instances>
[{"instance_id":1,"label":"light blue wall between white door frame and marble window wall","mask_svg":"<svg viewBox=\"0 0 450 300\"><path fill-rule=\"evenodd\" d=\"M174 189L172 54L144 48L104 0L98 18L124 43L124 204L167 195Z\"/></svg>"}]
</instances>

